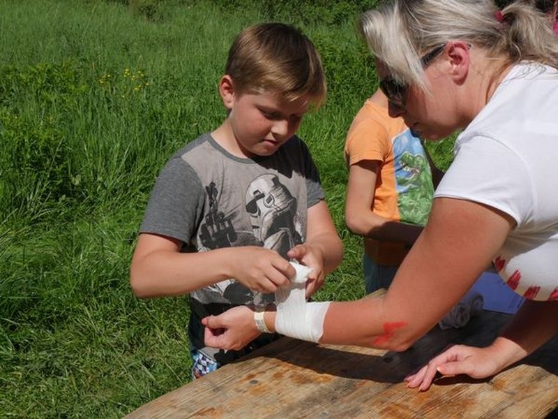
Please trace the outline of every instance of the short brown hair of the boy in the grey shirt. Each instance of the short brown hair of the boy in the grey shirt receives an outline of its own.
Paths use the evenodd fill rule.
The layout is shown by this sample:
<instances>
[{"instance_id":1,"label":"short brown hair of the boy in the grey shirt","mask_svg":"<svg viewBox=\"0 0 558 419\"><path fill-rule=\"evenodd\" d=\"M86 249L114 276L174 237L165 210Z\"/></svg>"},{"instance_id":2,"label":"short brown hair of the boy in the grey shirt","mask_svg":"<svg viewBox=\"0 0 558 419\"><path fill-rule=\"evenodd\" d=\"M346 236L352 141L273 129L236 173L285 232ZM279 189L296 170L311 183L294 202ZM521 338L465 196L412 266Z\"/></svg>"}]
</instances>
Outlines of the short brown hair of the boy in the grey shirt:
<instances>
[{"instance_id":1,"label":"short brown hair of the boy in the grey shirt","mask_svg":"<svg viewBox=\"0 0 558 419\"><path fill-rule=\"evenodd\" d=\"M324 67L314 44L287 24L255 24L241 31L225 72L241 93L276 91L288 101L308 96L316 108L326 98Z\"/></svg>"}]
</instances>

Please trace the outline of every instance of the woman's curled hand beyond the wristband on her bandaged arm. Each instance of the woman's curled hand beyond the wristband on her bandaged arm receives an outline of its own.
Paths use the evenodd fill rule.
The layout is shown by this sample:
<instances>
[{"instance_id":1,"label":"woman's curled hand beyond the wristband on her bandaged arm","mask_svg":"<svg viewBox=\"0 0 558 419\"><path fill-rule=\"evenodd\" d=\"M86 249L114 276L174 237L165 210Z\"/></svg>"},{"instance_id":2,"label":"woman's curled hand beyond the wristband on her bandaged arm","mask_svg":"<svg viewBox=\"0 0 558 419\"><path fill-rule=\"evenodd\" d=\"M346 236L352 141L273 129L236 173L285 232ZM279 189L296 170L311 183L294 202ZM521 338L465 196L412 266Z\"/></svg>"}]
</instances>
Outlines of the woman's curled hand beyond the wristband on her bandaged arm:
<instances>
[{"instance_id":1,"label":"woman's curled hand beyond the wristband on her bandaged arm","mask_svg":"<svg viewBox=\"0 0 558 419\"><path fill-rule=\"evenodd\" d=\"M239 351L260 335L254 311L246 306L233 307L219 316L202 318L204 343L212 348Z\"/></svg>"}]
</instances>

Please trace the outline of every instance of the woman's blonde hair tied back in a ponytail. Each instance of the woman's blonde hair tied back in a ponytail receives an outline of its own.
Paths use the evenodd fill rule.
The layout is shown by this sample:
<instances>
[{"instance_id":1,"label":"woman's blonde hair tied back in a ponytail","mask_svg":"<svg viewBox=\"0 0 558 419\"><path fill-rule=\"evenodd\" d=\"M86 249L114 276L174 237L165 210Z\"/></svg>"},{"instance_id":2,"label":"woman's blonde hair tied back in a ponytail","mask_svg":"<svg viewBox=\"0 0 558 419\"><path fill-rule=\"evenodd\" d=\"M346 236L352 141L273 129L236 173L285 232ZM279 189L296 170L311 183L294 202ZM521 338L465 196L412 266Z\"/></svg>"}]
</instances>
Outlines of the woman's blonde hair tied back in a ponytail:
<instances>
[{"instance_id":1,"label":"woman's blonde hair tied back in a ponytail","mask_svg":"<svg viewBox=\"0 0 558 419\"><path fill-rule=\"evenodd\" d=\"M517 1L497 19L492 0L393 0L363 13L361 35L398 82L426 89L421 56L451 40L504 57L506 65L536 61L558 68L558 38L548 19Z\"/></svg>"}]
</instances>

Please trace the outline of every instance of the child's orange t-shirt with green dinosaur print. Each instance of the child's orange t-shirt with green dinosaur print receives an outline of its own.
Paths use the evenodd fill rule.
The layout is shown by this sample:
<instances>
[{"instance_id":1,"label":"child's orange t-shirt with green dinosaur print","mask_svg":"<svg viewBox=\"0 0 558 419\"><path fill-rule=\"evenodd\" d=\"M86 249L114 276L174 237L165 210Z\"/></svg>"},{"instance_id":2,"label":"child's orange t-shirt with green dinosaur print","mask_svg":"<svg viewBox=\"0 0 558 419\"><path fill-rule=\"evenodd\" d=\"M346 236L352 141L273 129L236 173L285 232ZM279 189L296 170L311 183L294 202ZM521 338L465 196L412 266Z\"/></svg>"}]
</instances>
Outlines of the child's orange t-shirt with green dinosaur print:
<instances>
[{"instance_id":1,"label":"child's orange t-shirt with green dinosaur print","mask_svg":"<svg viewBox=\"0 0 558 419\"><path fill-rule=\"evenodd\" d=\"M345 142L345 161L379 161L372 211L393 221L424 226L432 205L432 172L421 140L402 118L366 101L354 117ZM407 254L404 243L365 237L366 254L379 265L398 266Z\"/></svg>"}]
</instances>

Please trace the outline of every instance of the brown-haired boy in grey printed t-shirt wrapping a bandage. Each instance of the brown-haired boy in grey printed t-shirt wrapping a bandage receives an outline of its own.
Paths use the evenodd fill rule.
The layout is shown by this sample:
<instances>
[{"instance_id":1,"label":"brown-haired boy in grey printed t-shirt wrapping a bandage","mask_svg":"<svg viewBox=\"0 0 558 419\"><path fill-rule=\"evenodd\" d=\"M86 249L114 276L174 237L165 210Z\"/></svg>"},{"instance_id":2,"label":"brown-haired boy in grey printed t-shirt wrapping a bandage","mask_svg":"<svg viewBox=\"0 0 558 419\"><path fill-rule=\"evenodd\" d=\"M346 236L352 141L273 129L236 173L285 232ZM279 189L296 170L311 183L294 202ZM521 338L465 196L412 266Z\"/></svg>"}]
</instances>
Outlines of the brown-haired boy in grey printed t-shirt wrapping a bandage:
<instances>
[{"instance_id":1,"label":"brown-haired boy in grey printed t-shirt wrapping a bandage","mask_svg":"<svg viewBox=\"0 0 558 419\"><path fill-rule=\"evenodd\" d=\"M285 24L248 27L229 50L218 89L227 118L160 172L130 268L138 297L190 293L195 378L277 337L251 322L238 351L209 348L202 318L273 302L294 277L289 259L312 268L312 295L342 258L317 168L294 135L326 94L314 45Z\"/></svg>"}]
</instances>

